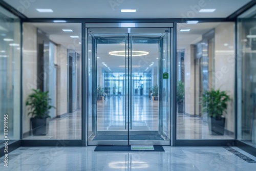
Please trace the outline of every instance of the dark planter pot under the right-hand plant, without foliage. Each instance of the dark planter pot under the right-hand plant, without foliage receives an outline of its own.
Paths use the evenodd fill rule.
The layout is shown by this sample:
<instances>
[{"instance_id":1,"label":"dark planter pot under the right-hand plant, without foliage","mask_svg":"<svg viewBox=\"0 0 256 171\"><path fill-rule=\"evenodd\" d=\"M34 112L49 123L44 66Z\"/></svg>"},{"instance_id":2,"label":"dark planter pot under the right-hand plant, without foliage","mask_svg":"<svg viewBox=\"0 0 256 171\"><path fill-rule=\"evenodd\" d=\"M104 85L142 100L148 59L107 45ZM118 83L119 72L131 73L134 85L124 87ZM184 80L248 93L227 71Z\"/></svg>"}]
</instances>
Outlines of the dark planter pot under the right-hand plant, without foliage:
<instances>
[{"instance_id":1,"label":"dark planter pot under the right-hand plant, without foliage","mask_svg":"<svg viewBox=\"0 0 256 171\"><path fill-rule=\"evenodd\" d=\"M209 124L209 122L208 122ZM224 135L225 131L225 118L222 117L210 117L210 127L212 135Z\"/></svg>"}]
</instances>

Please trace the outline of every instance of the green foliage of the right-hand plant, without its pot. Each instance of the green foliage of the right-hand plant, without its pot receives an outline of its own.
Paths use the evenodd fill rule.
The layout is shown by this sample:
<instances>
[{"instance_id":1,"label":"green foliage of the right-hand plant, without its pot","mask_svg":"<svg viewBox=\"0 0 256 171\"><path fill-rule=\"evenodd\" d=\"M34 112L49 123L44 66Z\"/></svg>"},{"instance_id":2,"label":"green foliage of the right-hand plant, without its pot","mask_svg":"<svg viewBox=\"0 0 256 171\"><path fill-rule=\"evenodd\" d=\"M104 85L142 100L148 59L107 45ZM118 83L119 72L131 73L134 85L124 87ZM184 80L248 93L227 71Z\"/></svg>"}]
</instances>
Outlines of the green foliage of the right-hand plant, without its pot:
<instances>
[{"instance_id":1,"label":"green foliage of the right-hand plant, without its pot","mask_svg":"<svg viewBox=\"0 0 256 171\"><path fill-rule=\"evenodd\" d=\"M211 89L205 91L201 97L203 112L207 112L209 117L218 118L227 113L227 102L230 97L225 91Z\"/></svg>"}]
</instances>

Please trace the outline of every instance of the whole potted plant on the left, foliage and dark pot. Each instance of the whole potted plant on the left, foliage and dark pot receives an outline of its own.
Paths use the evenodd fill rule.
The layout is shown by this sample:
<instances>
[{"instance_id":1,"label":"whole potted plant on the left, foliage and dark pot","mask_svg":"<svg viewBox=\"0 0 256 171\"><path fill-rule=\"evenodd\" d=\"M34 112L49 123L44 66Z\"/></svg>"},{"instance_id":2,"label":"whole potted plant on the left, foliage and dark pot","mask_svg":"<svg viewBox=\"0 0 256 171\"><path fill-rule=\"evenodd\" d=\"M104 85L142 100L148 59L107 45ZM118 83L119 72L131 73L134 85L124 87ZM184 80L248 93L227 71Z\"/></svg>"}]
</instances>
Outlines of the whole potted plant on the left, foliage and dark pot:
<instances>
[{"instance_id":1,"label":"whole potted plant on the left, foliage and dark pot","mask_svg":"<svg viewBox=\"0 0 256 171\"><path fill-rule=\"evenodd\" d=\"M33 89L26 100L26 106L29 106L28 115L32 124L33 135L47 135L49 130L49 112L54 106L50 105L51 98L49 92L42 92L39 89Z\"/></svg>"}]
</instances>

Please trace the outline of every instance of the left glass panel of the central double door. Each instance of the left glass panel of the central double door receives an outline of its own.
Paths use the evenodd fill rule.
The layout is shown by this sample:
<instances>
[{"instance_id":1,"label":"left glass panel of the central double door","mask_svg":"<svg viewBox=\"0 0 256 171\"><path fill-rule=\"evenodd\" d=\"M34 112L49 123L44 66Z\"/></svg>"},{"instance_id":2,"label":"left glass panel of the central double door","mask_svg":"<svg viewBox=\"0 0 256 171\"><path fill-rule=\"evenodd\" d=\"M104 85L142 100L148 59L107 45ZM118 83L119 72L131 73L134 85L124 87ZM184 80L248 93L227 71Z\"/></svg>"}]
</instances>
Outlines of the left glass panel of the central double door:
<instances>
[{"instance_id":1,"label":"left glass panel of the central double door","mask_svg":"<svg viewBox=\"0 0 256 171\"><path fill-rule=\"evenodd\" d=\"M92 60L92 115L95 123L89 145L128 144L126 110L125 50L127 34L89 33L94 48L88 49ZM116 53L117 55L111 55ZM92 55L90 55L92 54ZM89 82L90 84L90 82ZM91 120L89 120L90 122Z\"/></svg>"}]
</instances>

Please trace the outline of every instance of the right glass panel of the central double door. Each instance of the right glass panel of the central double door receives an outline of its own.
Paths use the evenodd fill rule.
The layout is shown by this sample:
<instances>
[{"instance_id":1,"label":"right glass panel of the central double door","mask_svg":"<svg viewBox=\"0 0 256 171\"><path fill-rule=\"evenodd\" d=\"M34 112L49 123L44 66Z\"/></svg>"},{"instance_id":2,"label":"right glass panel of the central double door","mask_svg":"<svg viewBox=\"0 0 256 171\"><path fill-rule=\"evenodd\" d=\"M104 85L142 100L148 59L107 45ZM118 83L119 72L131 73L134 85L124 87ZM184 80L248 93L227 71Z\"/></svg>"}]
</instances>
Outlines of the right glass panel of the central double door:
<instances>
[{"instance_id":1,"label":"right glass panel of the central double door","mask_svg":"<svg viewBox=\"0 0 256 171\"><path fill-rule=\"evenodd\" d=\"M129 144L169 145L168 33L131 33L131 112ZM148 77L149 76L149 77Z\"/></svg>"}]
</instances>

